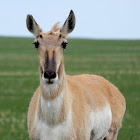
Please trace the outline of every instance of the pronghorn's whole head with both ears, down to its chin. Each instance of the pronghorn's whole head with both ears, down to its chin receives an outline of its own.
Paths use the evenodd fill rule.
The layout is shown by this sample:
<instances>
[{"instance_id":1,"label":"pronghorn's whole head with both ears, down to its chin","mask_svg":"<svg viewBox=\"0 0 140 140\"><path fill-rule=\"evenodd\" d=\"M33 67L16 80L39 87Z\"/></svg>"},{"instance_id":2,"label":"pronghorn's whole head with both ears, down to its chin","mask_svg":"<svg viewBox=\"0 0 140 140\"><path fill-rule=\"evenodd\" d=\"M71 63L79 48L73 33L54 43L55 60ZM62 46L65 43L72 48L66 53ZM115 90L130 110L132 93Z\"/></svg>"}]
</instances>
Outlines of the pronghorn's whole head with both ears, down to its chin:
<instances>
[{"instance_id":1,"label":"pronghorn's whole head with both ears, down to its chin","mask_svg":"<svg viewBox=\"0 0 140 140\"><path fill-rule=\"evenodd\" d=\"M34 45L39 53L40 76L47 84L56 82L63 73L63 51L67 35L75 27L75 16L71 10L64 25L56 23L49 32L43 32L32 15L27 15L27 28L35 36Z\"/></svg>"}]
</instances>

